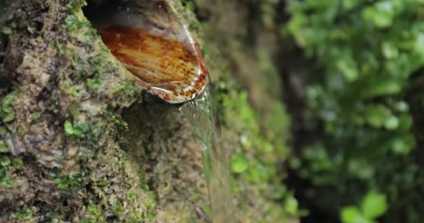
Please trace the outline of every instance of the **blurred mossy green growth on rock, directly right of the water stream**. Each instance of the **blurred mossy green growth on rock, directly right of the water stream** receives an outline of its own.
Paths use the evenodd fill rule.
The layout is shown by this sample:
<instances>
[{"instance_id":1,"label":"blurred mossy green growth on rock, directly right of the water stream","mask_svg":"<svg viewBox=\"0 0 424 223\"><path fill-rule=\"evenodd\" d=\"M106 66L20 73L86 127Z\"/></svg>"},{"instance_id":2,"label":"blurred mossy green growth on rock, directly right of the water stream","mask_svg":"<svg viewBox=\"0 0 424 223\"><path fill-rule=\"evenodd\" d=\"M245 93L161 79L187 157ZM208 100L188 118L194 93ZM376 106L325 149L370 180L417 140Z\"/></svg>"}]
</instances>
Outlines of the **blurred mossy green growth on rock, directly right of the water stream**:
<instances>
[{"instance_id":1,"label":"blurred mossy green growth on rock, directly right of the water stream","mask_svg":"<svg viewBox=\"0 0 424 223\"><path fill-rule=\"evenodd\" d=\"M289 116L285 107L274 101L270 115L262 118L249 104L248 93L241 90L228 73L219 83L215 95L218 96L222 125L231 126L240 146L235 148L231 160L232 188L238 198L236 206L246 213L245 218L238 220L289 222L304 215L305 210L300 208L294 192L282 183L287 175L285 169L278 168L280 160L288 153L287 138L275 137L288 130ZM262 129L261 123L268 128Z\"/></svg>"}]
</instances>

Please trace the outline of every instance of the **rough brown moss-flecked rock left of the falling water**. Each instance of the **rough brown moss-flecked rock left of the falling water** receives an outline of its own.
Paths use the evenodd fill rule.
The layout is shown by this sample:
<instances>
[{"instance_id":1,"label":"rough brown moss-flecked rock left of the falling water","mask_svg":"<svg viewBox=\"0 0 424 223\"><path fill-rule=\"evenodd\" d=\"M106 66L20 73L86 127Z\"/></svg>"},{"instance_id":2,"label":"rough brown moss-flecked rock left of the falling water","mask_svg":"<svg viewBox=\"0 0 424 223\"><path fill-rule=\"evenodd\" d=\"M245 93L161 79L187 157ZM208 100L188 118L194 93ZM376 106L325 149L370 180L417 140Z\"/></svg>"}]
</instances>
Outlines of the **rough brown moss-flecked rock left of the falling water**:
<instances>
[{"instance_id":1,"label":"rough brown moss-flecked rock left of the falling water","mask_svg":"<svg viewBox=\"0 0 424 223\"><path fill-rule=\"evenodd\" d=\"M129 111L143 116L149 114L143 107L151 102L142 102L140 89L84 17L84 5L5 3L9 13L1 17L1 50L7 55L0 61L1 220L152 222L173 216L176 222L186 222L188 215L196 217L195 201L175 194L176 205L165 200L169 192L199 194L196 201L205 200L202 168L196 164L200 153L183 157L195 162L191 165L199 187L186 183L193 177L184 169L190 162L181 157L175 157L174 164L167 160L180 154L179 147L197 149L195 142L188 143L193 141L190 130L183 131L189 139L169 142L172 155L162 155L163 161L153 154L162 151L160 145L174 129L158 141L128 137L151 137L157 131L154 119L143 118L144 128L123 121L123 109L137 101ZM173 116L167 122L179 129L181 120ZM173 167L181 169L175 177L179 181L169 178ZM194 192L184 192L189 189Z\"/></svg>"}]
</instances>

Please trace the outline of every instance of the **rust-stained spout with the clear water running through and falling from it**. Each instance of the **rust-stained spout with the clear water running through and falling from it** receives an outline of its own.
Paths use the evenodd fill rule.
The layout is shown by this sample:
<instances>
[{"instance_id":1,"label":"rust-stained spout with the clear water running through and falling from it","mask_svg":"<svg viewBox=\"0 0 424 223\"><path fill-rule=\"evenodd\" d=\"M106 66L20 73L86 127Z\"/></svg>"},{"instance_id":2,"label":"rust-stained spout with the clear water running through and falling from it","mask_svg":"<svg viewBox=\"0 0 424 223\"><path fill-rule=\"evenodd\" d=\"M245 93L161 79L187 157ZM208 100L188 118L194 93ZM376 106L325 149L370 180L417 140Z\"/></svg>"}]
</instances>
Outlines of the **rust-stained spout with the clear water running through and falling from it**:
<instances>
[{"instance_id":1,"label":"rust-stained spout with the clear water running through and falling from it","mask_svg":"<svg viewBox=\"0 0 424 223\"><path fill-rule=\"evenodd\" d=\"M176 103L191 99L194 94L190 95L189 90L202 91L207 71L195 39L188 31L188 25L178 20L178 13L167 2L93 0L84 9L84 15L98 29L112 54L139 78L136 84L159 98ZM183 60L183 55L174 55L172 52L184 52L184 55L192 56ZM185 70L196 72L186 73L184 69L176 69L181 68L181 63L185 64ZM195 77L197 84L192 81L186 83L187 75L189 81ZM179 95L180 90L186 91L190 97ZM213 223L231 223L234 222L234 207L229 186L229 155L220 144L213 104L209 85L195 100L186 102L181 112L190 122L202 148Z\"/></svg>"}]
</instances>

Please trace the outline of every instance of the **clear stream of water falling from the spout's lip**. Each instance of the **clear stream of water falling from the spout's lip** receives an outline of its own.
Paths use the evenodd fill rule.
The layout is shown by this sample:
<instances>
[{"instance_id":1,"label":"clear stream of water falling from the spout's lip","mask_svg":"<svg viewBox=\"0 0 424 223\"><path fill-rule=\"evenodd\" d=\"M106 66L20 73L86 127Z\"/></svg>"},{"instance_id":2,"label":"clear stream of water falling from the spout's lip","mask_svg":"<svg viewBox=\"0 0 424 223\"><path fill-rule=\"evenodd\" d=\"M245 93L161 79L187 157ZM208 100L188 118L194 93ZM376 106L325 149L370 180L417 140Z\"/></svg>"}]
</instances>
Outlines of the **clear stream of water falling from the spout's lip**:
<instances>
[{"instance_id":1,"label":"clear stream of water falling from the spout's lip","mask_svg":"<svg viewBox=\"0 0 424 223\"><path fill-rule=\"evenodd\" d=\"M234 222L229 155L221 145L210 84L195 100L185 103L180 110L190 122L193 134L202 148L213 223Z\"/></svg>"}]
</instances>

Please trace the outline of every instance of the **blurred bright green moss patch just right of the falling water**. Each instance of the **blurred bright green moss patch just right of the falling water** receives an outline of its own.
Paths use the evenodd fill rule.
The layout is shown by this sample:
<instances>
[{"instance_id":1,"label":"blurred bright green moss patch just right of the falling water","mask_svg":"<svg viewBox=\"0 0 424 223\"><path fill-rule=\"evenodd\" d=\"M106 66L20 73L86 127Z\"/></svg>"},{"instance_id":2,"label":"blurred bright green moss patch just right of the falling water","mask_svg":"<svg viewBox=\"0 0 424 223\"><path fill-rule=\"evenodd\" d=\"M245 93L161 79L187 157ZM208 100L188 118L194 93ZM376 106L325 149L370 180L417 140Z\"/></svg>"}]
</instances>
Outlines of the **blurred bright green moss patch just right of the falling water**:
<instances>
[{"instance_id":1,"label":"blurred bright green moss patch just right of the falling water","mask_svg":"<svg viewBox=\"0 0 424 223\"><path fill-rule=\"evenodd\" d=\"M278 102L271 106L270 115L262 119L262 123L268 123L267 126L271 125L271 128L264 132L259 125L259 114L249 105L245 91L235 94L219 93L218 97L225 122L240 135L241 148L232 157L232 169L236 174L234 177L238 179L234 191L240 194L245 190L243 187L248 185L251 190L261 193L261 196L275 199L262 200L261 202L272 205L257 207L259 209L255 210L260 215L274 213L273 221L284 221L287 217L301 215L303 210L298 209L293 194L287 192L287 187L281 184L282 174L278 173L278 159L284 159L288 153L285 138L280 136L281 132L287 132L289 125L284 107ZM239 208L243 206L240 203Z\"/></svg>"}]
</instances>

